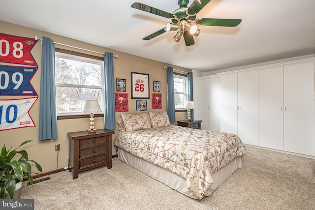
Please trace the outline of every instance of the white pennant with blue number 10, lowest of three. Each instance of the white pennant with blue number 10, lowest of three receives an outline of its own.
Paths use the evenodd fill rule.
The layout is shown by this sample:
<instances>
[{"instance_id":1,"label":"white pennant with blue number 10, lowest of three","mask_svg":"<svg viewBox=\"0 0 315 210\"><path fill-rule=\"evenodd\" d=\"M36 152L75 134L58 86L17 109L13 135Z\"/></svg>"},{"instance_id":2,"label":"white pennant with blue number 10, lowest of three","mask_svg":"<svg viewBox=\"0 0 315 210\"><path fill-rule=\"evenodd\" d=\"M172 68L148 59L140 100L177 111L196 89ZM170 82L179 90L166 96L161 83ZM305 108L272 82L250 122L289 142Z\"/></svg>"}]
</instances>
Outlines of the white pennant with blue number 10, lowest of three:
<instances>
[{"instance_id":1,"label":"white pennant with blue number 10, lowest of three","mask_svg":"<svg viewBox=\"0 0 315 210\"><path fill-rule=\"evenodd\" d=\"M29 111L37 97L0 100L0 130L35 127Z\"/></svg>"}]
</instances>

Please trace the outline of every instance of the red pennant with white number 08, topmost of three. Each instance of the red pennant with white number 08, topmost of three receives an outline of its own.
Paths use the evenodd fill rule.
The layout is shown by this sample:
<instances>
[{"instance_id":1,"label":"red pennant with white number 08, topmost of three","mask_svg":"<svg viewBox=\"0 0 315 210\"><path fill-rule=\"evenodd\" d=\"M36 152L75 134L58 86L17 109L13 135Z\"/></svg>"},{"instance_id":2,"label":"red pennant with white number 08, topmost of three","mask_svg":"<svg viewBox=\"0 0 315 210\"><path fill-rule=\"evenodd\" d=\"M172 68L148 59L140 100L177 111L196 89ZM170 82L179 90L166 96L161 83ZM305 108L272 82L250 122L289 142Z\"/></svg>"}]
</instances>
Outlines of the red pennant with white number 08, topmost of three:
<instances>
[{"instance_id":1,"label":"red pennant with white number 08, topmost of three","mask_svg":"<svg viewBox=\"0 0 315 210\"><path fill-rule=\"evenodd\" d=\"M0 33L0 62L37 66L31 50L38 40Z\"/></svg>"}]
</instances>

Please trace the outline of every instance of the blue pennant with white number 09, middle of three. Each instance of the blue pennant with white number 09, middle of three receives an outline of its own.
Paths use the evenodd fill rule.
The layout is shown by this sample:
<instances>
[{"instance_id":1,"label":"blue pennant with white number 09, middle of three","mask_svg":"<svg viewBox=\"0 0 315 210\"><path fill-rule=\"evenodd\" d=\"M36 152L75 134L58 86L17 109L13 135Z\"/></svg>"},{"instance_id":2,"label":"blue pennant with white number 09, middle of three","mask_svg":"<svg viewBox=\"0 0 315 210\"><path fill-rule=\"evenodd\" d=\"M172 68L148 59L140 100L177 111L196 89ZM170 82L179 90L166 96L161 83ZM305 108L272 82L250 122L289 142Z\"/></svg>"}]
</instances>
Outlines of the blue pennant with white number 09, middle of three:
<instances>
[{"instance_id":1,"label":"blue pennant with white number 09, middle of three","mask_svg":"<svg viewBox=\"0 0 315 210\"><path fill-rule=\"evenodd\" d=\"M0 95L37 95L31 79L37 67L0 65Z\"/></svg>"}]
</instances>

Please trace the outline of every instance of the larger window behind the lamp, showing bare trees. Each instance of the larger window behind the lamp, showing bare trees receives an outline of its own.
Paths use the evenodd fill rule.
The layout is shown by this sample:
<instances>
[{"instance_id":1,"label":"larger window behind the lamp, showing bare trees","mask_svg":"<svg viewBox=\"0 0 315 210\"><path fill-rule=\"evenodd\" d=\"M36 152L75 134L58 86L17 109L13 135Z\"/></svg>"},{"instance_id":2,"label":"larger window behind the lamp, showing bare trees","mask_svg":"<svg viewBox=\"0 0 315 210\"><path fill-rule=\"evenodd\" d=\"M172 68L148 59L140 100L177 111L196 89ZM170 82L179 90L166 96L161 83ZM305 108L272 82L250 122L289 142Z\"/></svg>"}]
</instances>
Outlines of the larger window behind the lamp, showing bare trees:
<instances>
[{"instance_id":1,"label":"larger window behind the lamp, showing bare trees","mask_svg":"<svg viewBox=\"0 0 315 210\"><path fill-rule=\"evenodd\" d=\"M55 52L57 114L81 114L86 99L104 110L104 61Z\"/></svg>"}]
</instances>

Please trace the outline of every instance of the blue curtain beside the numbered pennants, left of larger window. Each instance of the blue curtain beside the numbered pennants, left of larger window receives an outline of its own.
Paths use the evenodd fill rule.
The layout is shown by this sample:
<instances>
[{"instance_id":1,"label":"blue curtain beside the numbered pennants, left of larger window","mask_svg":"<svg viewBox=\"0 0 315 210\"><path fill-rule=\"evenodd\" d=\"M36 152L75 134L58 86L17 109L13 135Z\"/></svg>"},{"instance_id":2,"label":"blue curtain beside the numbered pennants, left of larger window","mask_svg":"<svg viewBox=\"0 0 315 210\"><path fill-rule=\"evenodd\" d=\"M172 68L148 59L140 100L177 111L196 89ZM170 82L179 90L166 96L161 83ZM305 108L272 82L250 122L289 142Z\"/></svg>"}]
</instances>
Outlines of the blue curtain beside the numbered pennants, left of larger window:
<instances>
[{"instance_id":1,"label":"blue curtain beside the numbered pennants, left of larger window","mask_svg":"<svg viewBox=\"0 0 315 210\"><path fill-rule=\"evenodd\" d=\"M43 36L39 97L39 141L57 139L57 111L55 89L55 46Z\"/></svg>"}]
</instances>

